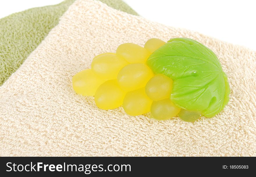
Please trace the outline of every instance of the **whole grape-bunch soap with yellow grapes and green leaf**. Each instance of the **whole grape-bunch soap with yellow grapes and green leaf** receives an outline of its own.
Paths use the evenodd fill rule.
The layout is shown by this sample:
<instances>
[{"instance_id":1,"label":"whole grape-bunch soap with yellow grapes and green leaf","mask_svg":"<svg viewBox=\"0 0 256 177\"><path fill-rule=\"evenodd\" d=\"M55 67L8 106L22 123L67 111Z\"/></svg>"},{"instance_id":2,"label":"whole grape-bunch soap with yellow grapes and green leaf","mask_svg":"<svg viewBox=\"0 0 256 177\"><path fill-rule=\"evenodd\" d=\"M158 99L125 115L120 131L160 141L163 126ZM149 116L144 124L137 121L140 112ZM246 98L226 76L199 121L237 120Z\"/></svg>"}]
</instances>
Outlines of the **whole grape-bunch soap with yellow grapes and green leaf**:
<instances>
[{"instance_id":1,"label":"whole grape-bunch soap with yellow grapes and green leaf","mask_svg":"<svg viewBox=\"0 0 256 177\"><path fill-rule=\"evenodd\" d=\"M91 69L73 79L77 94L94 96L103 110L122 106L126 114L150 112L150 118L179 116L193 122L213 117L229 101L227 75L217 56L201 43L187 38L167 43L149 39L144 48L121 44L116 53L95 56Z\"/></svg>"}]
</instances>

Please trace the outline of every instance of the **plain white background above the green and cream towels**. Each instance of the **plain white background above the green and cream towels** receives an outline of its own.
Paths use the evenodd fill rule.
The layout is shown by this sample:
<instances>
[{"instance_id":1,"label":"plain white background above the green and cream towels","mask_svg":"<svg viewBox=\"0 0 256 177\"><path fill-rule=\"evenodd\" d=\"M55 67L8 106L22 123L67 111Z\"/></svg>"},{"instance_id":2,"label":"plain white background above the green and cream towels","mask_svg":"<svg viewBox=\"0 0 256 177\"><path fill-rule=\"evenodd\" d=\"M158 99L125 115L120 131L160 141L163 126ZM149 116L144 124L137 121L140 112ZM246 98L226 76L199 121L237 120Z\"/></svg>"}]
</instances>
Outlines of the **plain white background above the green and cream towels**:
<instances>
[{"instance_id":1,"label":"plain white background above the green and cream towels","mask_svg":"<svg viewBox=\"0 0 256 177\"><path fill-rule=\"evenodd\" d=\"M0 0L0 18L63 0ZM124 0L142 17L256 50L254 0Z\"/></svg>"}]
</instances>

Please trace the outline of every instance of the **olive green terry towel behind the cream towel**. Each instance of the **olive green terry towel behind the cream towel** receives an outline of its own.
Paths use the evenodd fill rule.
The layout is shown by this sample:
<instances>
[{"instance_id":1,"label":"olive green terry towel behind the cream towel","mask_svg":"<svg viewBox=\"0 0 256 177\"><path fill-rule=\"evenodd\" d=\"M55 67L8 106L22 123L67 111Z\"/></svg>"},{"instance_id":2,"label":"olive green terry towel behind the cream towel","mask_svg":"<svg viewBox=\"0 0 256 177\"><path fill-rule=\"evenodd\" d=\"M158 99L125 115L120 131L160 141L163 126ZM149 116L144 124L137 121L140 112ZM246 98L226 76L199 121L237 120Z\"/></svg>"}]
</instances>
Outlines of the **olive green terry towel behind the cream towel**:
<instances>
[{"instance_id":1,"label":"olive green terry towel behind the cream towel","mask_svg":"<svg viewBox=\"0 0 256 177\"><path fill-rule=\"evenodd\" d=\"M0 86L41 43L75 0L33 8L0 19ZM137 14L121 0L100 0L115 9Z\"/></svg>"}]
</instances>

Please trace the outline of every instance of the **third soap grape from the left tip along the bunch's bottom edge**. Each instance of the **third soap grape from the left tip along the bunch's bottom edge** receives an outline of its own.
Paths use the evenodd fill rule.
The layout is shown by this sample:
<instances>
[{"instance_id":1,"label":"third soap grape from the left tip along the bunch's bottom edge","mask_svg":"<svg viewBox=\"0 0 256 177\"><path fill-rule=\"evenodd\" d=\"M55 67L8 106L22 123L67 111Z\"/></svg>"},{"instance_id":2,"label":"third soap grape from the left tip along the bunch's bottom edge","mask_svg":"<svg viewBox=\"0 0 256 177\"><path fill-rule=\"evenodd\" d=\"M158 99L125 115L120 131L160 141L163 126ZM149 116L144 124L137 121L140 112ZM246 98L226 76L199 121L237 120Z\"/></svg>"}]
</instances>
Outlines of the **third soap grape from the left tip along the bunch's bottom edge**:
<instances>
[{"instance_id":1,"label":"third soap grape from the left tip along the bunch's bottom edge","mask_svg":"<svg viewBox=\"0 0 256 177\"><path fill-rule=\"evenodd\" d=\"M150 112L152 100L146 95L145 88L128 92L123 101L125 112L131 116L138 116Z\"/></svg>"}]
</instances>

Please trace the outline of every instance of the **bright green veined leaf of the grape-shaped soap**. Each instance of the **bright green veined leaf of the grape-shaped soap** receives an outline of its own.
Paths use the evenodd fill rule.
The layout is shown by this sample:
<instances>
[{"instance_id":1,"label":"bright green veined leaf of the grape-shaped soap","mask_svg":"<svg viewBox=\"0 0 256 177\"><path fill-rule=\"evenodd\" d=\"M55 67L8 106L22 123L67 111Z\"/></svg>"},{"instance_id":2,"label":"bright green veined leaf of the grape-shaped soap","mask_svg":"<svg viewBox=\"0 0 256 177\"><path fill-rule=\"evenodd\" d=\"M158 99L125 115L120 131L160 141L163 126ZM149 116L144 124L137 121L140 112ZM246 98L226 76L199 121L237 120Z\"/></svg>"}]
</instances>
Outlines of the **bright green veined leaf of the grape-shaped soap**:
<instances>
[{"instance_id":1,"label":"bright green veined leaf of the grape-shaped soap","mask_svg":"<svg viewBox=\"0 0 256 177\"><path fill-rule=\"evenodd\" d=\"M230 88L217 56L201 43L187 38L170 39L153 52L147 64L155 74L173 80L175 105L213 117L229 101Z\"/></svg>"}]
</instances>

